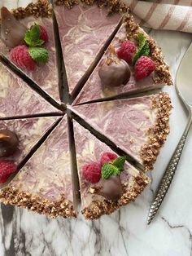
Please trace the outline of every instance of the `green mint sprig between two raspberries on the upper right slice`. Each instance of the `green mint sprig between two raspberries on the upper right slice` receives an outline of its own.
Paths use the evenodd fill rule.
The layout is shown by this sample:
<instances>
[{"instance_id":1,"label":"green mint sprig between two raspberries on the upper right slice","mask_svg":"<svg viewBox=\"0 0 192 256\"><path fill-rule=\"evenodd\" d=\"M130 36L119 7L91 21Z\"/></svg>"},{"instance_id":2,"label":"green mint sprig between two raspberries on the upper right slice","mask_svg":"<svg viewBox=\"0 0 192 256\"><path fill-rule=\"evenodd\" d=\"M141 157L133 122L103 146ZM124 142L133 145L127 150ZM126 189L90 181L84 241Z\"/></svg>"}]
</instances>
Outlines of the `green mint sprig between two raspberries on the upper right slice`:
<instances>
[{"instance_id":1,"label":"green mint sprig between two raspberries on the upper right slice","mask_svg":"<svg viewBox=\"0 0 192 256\"><path fill-rule=\"evenodd\" d=\"M137 48L137 52L136 54L133 56L133 60L132 63L135 64L136 61L142 56L142 55L146 55L148 56L150 54L150 46L148 44L148 42L146 41L146 38L144 37L144 35L142 33L139 33L137 35L139 44L138 44L138 48Z\"/></svg>"}]
</instances>

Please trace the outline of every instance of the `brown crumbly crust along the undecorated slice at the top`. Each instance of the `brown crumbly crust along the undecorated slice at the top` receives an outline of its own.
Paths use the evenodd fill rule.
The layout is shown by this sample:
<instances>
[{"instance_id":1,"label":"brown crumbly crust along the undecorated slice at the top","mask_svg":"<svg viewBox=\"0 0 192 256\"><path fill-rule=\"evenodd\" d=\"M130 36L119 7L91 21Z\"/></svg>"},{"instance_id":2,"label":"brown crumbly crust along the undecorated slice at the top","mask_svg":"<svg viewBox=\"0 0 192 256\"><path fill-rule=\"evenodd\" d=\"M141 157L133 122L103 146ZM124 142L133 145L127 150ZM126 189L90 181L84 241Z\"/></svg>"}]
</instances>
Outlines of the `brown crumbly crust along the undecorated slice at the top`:
<instances>
[{"instance_id":1,"label":"brown crumbly crust along the undecorated slice at the top","mask_svg":"<svg viewBox=\"0 0 192 256\"><path fill-rule=\"evenodd\" d=\"M87 5L97 3L99 8L106 7L109 14L115 12L126 13L129 11L129 8L119 0L55 0L56 5L65 5L69 9L80 2L84 2Z\"/></svg>"}]
</instances>

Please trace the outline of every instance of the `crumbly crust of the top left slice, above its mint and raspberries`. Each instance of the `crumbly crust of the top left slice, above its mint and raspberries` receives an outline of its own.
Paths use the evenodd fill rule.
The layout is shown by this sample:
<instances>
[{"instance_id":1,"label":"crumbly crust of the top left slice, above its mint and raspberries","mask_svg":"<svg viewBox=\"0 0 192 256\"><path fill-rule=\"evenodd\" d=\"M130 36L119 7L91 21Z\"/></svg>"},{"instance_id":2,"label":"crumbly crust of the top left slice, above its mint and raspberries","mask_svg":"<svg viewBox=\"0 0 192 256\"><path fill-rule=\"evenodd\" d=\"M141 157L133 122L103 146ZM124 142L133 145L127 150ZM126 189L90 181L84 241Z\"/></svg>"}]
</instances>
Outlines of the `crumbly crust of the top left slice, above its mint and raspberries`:
<instances>
[{"instance_id":1,"label":"crumbly crust of the top left slice, above its mint and raspberries","mask_svg":"<svg viewBox=\"0 0 192 256\"><path fill-rule=\"evenodd\" d=\"M12 10L13 15L16 19L21 20L30 15L35 17L47 18L52 15L52 7L48 0L38 0L37 2L29 3L27 7L18 7Z\"/></svg>"}]
</instances>

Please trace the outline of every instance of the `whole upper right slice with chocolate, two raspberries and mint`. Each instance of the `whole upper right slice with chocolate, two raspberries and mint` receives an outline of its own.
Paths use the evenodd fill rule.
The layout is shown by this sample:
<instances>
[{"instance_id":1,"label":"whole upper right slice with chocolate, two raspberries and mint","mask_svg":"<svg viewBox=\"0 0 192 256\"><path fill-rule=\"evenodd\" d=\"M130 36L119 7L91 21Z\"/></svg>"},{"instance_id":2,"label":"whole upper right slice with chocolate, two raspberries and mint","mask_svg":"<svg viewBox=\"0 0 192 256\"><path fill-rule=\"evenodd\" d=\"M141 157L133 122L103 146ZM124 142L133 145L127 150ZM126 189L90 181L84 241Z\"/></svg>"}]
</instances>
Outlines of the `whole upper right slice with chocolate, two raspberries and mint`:
<instances>
[{"instance_id":1,"label":"whole upper right slice with chocolate, two raspberries and mint","mask_svg":"<svg viewBox=\"0 0 192 256\"><path fill-rule=\"evenodd\" d=\"M150 61L149 68L151 63L154 68L152 66L148 76L142 75L146 77L138 78L136 70L142 67L142 58L139 56L147 55L145 49L141 51L142 46L148 47L148 56L144 59ZM133 64L132 61L137 60L136 58L138 61ZM131 95L158 89L164 84L171 85L172 78L161 50L156 42L134 23L132 15L127 15L127 19L73 104L109 99L124 94Z\"/></svg>"}]
</instances>

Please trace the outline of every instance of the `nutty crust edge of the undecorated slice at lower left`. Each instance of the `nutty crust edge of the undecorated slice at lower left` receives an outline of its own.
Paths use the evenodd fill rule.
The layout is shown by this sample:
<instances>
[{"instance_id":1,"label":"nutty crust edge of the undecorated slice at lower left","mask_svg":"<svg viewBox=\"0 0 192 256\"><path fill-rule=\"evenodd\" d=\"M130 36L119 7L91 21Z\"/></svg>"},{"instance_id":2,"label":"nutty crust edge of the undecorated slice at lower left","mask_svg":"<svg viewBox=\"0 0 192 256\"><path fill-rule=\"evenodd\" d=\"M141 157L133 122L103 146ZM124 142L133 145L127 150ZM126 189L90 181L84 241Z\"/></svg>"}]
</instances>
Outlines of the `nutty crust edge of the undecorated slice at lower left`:
<instances>
[{"instance_id":1,"label":"nutty crust edge of the undecorated slice at lower left","mask_svg":"<svg viewBox=\"0 0 192 256\"><path fill-rule=\"evenodd\" d=\"M59 201L48 201L40 196L33 196L28 192L21 192L18 188L7 187L0 191L0 201L5 205L16 205L28 210L45 214L51 218L62 216L63 218L76 217L77 213L72 204L61 196Z\"/></svg>"}]
</instances>

